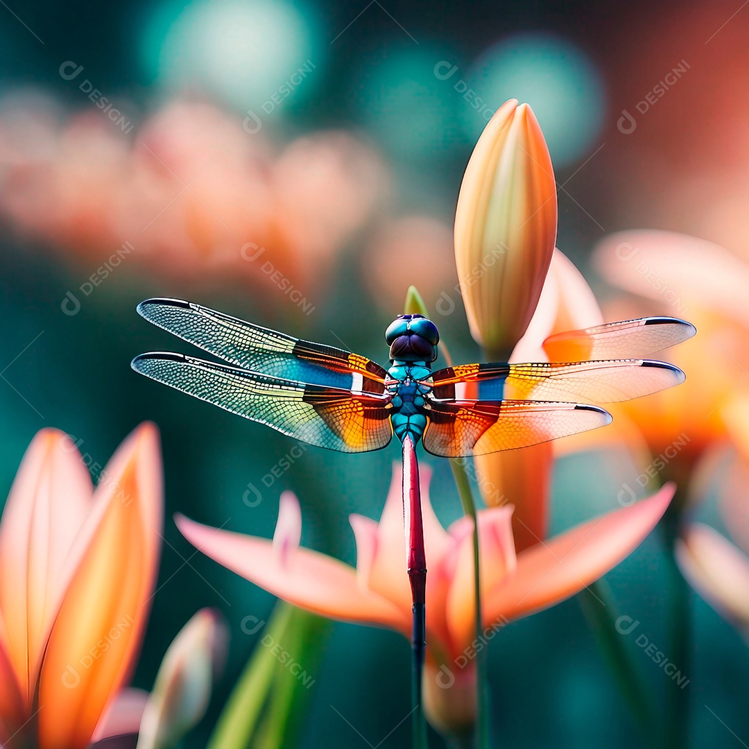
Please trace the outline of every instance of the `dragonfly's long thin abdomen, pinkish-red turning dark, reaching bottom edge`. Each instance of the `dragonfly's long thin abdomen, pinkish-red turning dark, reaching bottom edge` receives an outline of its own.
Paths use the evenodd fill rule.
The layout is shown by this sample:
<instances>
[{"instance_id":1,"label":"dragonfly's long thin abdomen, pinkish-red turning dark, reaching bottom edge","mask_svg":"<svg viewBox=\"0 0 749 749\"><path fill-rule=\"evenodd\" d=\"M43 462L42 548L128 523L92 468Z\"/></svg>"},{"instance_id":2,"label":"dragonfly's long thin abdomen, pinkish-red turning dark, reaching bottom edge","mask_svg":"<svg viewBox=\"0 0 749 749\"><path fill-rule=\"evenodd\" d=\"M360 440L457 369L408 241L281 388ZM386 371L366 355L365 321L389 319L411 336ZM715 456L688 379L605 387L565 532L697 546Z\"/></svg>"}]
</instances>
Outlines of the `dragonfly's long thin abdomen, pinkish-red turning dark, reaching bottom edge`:
<instances>
[{"instance_id":1,"label":"dragonfly's long thin abdomen, pinkish-red turning dark, reaching bottom edge","mask_svg":"<svg viewBox=\"0 0 749 749\"><path fill-rule=\"evenodd\" d=\"M413 746L426 747L426 724L422 708L422 676L426 655L426 554L422 522L419 466L410 434L403 440L403 519L406 562L413 601Z\"/></svg>"}]
</instances>

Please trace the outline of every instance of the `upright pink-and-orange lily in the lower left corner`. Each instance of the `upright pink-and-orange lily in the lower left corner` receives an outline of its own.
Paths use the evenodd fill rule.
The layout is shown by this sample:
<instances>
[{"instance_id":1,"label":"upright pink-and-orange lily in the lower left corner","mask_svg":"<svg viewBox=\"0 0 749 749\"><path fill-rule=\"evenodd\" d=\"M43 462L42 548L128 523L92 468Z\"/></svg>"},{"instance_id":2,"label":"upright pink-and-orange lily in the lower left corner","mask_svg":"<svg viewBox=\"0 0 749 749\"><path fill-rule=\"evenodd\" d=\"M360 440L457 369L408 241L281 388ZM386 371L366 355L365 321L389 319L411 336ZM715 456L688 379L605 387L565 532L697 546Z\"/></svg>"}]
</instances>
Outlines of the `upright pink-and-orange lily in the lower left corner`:
<instances>
[{"instance_id":1,"label":"upright pink-and-orange lily in the lower left corner","mask_svg":"<svg viewBox=\"0 0 749 749\"><path fill-rule=\"evenodd\" d=\"M34 437L0 523L4 746L82 749L117 709L148 618L162 513L153 425L127 437L95 491L67 434Z\"/></svg>"}]
</instances>

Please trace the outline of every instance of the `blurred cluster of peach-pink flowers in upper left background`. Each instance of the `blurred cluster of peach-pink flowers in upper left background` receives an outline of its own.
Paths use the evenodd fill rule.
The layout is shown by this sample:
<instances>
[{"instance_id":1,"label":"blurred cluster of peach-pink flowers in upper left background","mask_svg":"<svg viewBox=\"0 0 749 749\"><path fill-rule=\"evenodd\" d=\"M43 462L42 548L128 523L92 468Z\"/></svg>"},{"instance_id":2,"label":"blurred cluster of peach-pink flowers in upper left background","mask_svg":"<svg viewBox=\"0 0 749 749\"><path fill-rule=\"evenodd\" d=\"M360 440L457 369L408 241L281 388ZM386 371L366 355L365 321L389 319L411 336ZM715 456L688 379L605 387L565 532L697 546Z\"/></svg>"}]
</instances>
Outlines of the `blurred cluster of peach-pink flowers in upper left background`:
<instances>
[{"instance_id":1,"label":"blurred cluster of peach-pink flowers in upper left background","mask_svg":"<svg viewBox=\"0 0 749 749\"><path fill-rule=\"evenodd\" d=\"M127 242L170 276L257 280L275 269L314 285L385 191L379 157L343 132L276 154L204 103L167 104L132 141L96 112L58 124L48 109L0 113L0 212L86 260Z\"/></svg>"}]
</instances>

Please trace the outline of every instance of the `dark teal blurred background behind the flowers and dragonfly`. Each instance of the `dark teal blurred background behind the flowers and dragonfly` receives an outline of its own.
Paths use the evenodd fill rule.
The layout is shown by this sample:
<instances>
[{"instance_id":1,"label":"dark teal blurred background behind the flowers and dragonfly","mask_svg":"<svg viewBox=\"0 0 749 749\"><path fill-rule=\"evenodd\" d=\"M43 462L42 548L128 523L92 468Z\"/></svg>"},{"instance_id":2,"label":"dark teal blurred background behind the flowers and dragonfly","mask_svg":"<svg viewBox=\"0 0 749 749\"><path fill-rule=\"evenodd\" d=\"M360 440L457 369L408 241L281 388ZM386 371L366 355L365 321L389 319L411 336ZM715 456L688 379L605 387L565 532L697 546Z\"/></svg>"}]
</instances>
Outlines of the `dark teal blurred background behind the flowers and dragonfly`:
<instances>
[{"instance_id":1,"label":"dark teal blurred background behind the flowers and dragonfly","mask_svg":"<svg viewBox=\"0 0 749 749\"><path fill-rule=\"evenodd\" d=\"M247 17L254 17L252 3L235 5L241 6ZM568 85L589 107L581 105L578 112L577 116L586 119L583 125L575 128L567 122L567 130L562 128L561 135L555 136L560 140L551 141L558 180L565 183L576 175L606 141L612 142L609 148L614 153L630 153L634 160L649 158L616 131L619 111L631 102L630 89L622 84L628 69L622 47L635 44L632 40L637 39L638 23L646 22L640 20L647 12L645 3L603 9L580 1L574 11L562 10L552 2L533 7L524 3L503 7L404 3L387 11L379 4L363 11L365 5L319 0L294 6L303 26L301 36L289 31L273 37L267 49L275 48L280 62L264 61L254 78L242 70L252 67L253 55L238 43L239 56L234 63L247 76L245 85L252 88L246 97L242 76L231 78L227 73L224 88L211 85L210 75L221 78L222 70L225 72L228 58L223 53L216 55L213 69L204 71L203 77L189 68L187 72L176 70L179 55L171 61L165 58L163 41L175 26L180 4L37 1L16 8L33 33L0 8L0 94L7 97L31 88L54 97L64 111L82 111L91 105L58 74L61 62L72 59L85 64L91 79L100 82L113 98L132 103L130 111L140 116L167 100L179 80L190 94L213 101L240 122L248 107L261 104L286 79L283 66L291 58L282 52L293 58L303 38L303 57L315 60L315 75L310 76L309 86L300 86L298 96L285 100L277 117L268 118L269 136L280 143L323 128L354 131L371 142L388 165L391 210L419 210L449 225L462 170L478 132L475 123L466 125L467 118L473 122L471 105L454 84L458 77L464 79L496 108L506 95L505 88L491 87L491 76L480 72L483 63L479 68L473 66L477 60L488 59L481 55L495 44L535 38L526 34L532 31L554 34L577 50L579 58L574 58L574 65L578 67L572 66L574 75ZM672 3L671 7L675 11L678 6ZM358 17L357 13L362 14ZM440 61L457 66L455 76L449 80L435 76L434 67ZM543 79L548 55L541 63L539 76ZM583 73L580 65L588 66ZM297 67L296 61L292 67ZM557 73L564 76L565 70L568 68L562 66ZM540 93L536 95L543 97L543 85L549 81L538 83ZM531 97L536 89L533 81L529 85L527 96ZM640 76L636 85L639 95L649 90L652 81ZM545 118L552 127L554 109L547 114L541 105L542 127ZM565 142L568 131L571 134ZM626 151L628 148L632 150ZM608 172L611 163L613 159L604 152L598 162L574 176L568 186L574 191L574 201L560 196L558 244L580 264L594 288L604 293L587 267L587 254L603 227L613 231L631 225L617 207L619 185L616 175ZM643 210L638 218L646 215ZM300 498L303 544L353 563L354 536L348 515L379 516L398 453L391 448L345 456L310 448L270 488L263 488L258 506L248 507L243 502L248 484L260 487L262 477L294 443L131 372L129 362L135 354L178 345L139 318L136 304L157 295L194 299L309 339L332 345L342 340L354 351L383 362L383 330L398 309L386 312L386 305L363 280L363 256L376 251L368 243L367 233L372 231L369 226L339 253L318 288L317 309L309 317L301 318L282 304L267 305L267 289L257 293L249 283L203 284L169 273L150 273L129 261L82 299L76 315L69 316L61 311L65 295L79 288L112 248L103 247L98 260L82 258L61 251L52 241L28 239L10 221L1 225L0 370L6 381L0 380L0 494L10 487L34 433L45 425L82 439L82 450L104 464L139 422L151 419L157 423L166 467L167 544L135 684L151 686L166 647L198 608L218 607L231 631L227 672L209 714L186 742L189 749L205 745L220 706L261 637L261 633L243 634L243 618L267 619L273 599L194 554L169 518L179 511L206 524L225 524L231 530L269 537L279 494L289 488ZM397 267L392 273L398 273ZM419 277L410 281L419 285ZM433 305L434 299L428 303ZM456 360L480 356L460 307L437 323ZM616 508L616 492L628 469L610 458L592 453L559 461L553 503L555 531ZM437 513L449 523L459 516L449 470L440 461L425 460L434 467L432 494ZM711 503L700 512L721 527ZM607 576L622 613L639 619L642 631L655 643L666 641L660 554L658 540L650 538ZM700 598L693 597L696 650L688 689L694 746L732 748L736 739L711 712L720 715L737 736L749 740L749 716L743 699L749 682L749 656L739 634ZM407 747L409 722L395 728L410 709L406 640L387 631L336 623L333 634L321 646L324 659L315 673L309 713L295 716L303 721L303 747L355 748L366 746L366 742L375 746L383 742L383 748ZM656 694L662 696L675 688L643 652L637 655ZM574 600L503 628L491 647L491 695L497 747L629 749L639 740ZM437 736L431 739L434 746L440 745Z\"/></svg>"}]
</instances>

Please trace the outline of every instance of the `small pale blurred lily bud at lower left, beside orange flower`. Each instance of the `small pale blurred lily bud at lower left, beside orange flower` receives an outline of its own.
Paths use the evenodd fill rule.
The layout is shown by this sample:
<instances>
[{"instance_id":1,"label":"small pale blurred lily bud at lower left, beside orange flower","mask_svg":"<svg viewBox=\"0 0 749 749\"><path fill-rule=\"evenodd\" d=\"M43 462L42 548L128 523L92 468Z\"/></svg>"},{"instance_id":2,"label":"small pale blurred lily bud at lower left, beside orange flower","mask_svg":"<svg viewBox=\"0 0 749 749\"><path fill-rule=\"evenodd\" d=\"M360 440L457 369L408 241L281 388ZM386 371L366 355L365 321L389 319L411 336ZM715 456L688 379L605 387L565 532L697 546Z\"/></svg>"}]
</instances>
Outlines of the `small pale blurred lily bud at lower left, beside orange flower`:
<instances>
[{"instance_id":1,"label":"small pale blurred lily bud at lower left, beside orange flower","mask_svg":"<svg viewBox=\"0 0 749 749\"><path fill-rule=\"evenodd\" d=\"M224 664L227 639L226 625L211 609L198 611L182 628L148 697L137 749L175 749L200 721Z\"/></svg>"}]
</instances>

